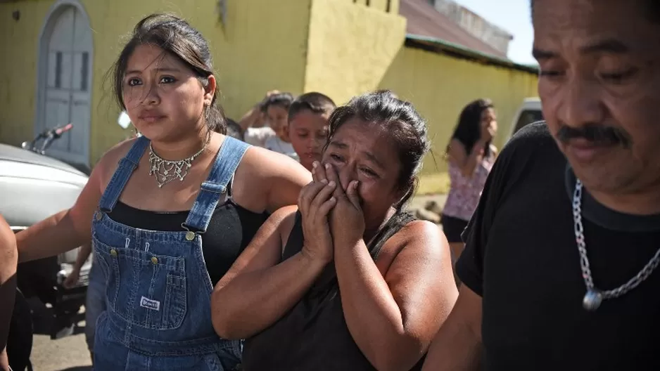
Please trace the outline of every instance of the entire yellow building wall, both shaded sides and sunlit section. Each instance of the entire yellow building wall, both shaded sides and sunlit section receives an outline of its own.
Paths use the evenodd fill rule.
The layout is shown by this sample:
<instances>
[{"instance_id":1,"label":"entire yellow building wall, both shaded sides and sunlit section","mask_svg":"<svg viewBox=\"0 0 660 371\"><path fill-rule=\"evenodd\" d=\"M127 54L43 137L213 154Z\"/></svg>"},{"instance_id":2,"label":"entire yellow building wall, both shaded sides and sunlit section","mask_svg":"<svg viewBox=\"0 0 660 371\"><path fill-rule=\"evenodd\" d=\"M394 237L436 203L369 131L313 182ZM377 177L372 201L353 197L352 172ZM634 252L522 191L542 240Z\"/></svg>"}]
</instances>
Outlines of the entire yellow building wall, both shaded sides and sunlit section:
<instances>
[{"instance_id":1,"label":"entire yellow building wall, both shaded sides and sunlit section","mask_svg":"<svg viewBox=\"0 0 660 371\"><path fill-rule=\"evenodd\" d=\"M447 190L443 160L457 117L470 100L497 107L501 146L523 98L536 95L534 74L481 65L403 46L405 19L398 1L227 0L222 25L215 1L81 0L94 32L91 164L127 133L116 124L106 72L134 24L148 13L174 12L210 41L229 117L239 118L265 91L323 91L337 103L374 89L411 100L429 122L433 153L424 163L419 193ZM39 30L54 0L0 4L0 141L32 137ZM20 20L11 18L20 11ZM286 21L283 21L286 20Z\"/></svg>"}]
</instances>

